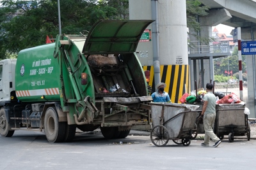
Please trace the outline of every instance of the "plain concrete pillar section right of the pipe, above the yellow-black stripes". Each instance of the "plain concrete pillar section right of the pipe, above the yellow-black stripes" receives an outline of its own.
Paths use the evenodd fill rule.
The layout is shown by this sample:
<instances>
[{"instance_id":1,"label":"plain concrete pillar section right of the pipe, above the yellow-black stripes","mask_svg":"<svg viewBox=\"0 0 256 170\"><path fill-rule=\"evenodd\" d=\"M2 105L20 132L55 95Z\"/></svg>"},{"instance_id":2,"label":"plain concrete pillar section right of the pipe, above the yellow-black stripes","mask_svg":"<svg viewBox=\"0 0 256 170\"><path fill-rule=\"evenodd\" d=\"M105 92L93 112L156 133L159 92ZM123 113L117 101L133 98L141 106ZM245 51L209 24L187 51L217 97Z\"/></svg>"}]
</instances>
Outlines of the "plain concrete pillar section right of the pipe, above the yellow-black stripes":
<instances>
[{"instance_id":1,"label":"plain concrete pillar section right of the pipe, above the yellow-black stripes","mask_svg":"<svg viewBox=\"0 0 256 170\"><path fill-rule=\"evenodd\" d=\"M186 1L161 0L159 4L160 63L188 64Z\"/></svg>"}]
</instances>

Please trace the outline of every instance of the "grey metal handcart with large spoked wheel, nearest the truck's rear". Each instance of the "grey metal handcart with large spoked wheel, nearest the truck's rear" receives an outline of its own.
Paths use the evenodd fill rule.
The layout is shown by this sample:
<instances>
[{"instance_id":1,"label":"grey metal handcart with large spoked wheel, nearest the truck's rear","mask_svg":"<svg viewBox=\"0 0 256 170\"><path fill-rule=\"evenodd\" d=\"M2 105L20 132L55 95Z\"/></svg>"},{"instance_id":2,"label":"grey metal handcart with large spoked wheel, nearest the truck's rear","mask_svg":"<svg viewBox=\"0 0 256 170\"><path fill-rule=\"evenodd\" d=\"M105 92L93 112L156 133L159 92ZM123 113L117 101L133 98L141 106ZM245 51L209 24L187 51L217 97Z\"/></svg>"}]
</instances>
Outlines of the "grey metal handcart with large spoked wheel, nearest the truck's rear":
<instances>
[{"instance_id":1,"label":"grey metal handcart with large spoked wheel, nearest the truck's rear","mask_svg":"<svg viewBox=\"0 0 256 170\"><path fill-rule=\"evenodd\" d=\"M153 128L150 139L156 146L165 146L169 139L177 145L189 146L199 106L191 104L149 103Z\"/></svg>"}]
</instances>

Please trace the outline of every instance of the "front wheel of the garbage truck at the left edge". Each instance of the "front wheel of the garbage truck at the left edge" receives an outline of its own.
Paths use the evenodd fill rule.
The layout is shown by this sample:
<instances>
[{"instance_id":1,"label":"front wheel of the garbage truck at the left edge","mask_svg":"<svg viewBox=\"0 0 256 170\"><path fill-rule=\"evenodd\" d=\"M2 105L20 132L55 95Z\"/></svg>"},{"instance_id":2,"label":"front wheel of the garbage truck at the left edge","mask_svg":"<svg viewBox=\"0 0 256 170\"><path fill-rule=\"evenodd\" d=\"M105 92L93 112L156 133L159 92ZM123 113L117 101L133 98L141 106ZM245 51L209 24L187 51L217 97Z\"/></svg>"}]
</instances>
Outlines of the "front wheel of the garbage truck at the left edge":
<instances>
[{"instance_id":1,"label":"front wheel of the garbage truck at the left edge","mask_svg":"<svg viewBox=\"0 0 256 170\"><path fill-rule=\"evenodd\" d=\"M10 131L11 127L6 119L4 108L0 110L0 134L4 137L12 137L14 131Z\"/></svg>"}]
</instances>

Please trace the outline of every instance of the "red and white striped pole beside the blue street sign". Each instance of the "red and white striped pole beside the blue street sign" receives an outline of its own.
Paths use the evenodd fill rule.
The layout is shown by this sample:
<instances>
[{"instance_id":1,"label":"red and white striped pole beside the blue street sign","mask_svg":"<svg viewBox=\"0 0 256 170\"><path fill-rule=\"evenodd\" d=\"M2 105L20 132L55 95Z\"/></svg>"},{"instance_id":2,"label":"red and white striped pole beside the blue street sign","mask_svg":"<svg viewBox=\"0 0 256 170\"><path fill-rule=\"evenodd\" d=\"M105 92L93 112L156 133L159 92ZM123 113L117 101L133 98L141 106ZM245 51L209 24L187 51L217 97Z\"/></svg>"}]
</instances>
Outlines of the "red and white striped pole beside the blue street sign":
<instances>
[{"instance_id":1,"label":"red and white striped pole beside the blue street sign","mask_svg":"<svg viewBox=\"0 0 256 170\"><path fill-rule=\"evenodd\" d=\"M242 52L241 52L241 27L237 27L237 43L238 43L238 66L239 66L239 90L240 99L243 101L243 75L242 75Z\"/></svg>"}]
</instances>

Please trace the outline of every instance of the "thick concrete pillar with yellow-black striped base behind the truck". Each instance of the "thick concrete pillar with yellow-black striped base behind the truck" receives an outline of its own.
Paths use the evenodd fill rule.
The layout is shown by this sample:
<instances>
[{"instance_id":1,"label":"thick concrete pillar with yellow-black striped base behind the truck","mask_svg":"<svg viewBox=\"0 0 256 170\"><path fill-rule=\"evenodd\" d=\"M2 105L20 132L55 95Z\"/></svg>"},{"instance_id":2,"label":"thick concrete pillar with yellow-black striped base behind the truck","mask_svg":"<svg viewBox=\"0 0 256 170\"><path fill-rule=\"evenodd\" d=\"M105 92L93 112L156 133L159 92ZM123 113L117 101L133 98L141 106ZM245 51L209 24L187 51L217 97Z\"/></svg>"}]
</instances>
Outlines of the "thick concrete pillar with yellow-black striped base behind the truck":
<instances>
[{"instance_id":1,"label":"thick concrete pillar with yellow-black striped base behind the truck","mask_svg":"<svg viewBox=\"0 0 256 170\"><path fill-rule=\"evenodd\" d=\"M154 1L154 0L153 0ZM188 39L186 0L158 0L159 62L164 91L170 94L173 103L179 103L184 92L189 92ZM151 1L129 0L130 19L151 19ZM179 17L177 17L179 16ZM156 41L156 39L152 39ZM143 69L150 69L150 83L154 88L152 42L141 42L136 54ZM141 53L147 55L140 55Z\"/></svg>"}]
</instances>

